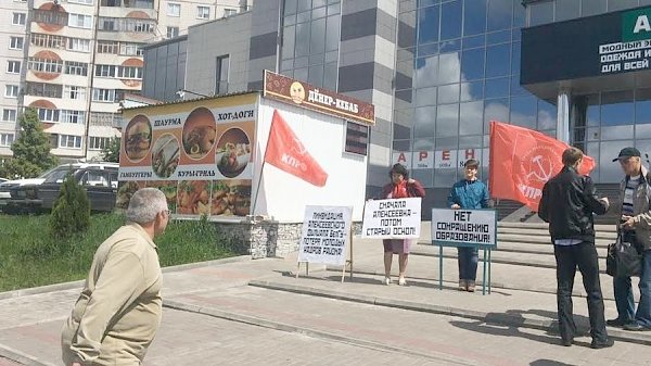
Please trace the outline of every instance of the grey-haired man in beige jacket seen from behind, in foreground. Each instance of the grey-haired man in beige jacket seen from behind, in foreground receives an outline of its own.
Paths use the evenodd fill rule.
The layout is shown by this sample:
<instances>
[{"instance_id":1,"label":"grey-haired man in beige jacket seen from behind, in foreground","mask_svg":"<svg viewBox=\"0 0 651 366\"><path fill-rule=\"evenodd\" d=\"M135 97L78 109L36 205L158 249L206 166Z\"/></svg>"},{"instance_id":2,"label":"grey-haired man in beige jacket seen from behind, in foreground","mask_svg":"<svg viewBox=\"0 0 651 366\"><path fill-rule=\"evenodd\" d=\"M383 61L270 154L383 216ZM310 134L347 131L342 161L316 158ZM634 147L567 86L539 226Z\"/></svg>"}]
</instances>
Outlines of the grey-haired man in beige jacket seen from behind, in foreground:
<instances>
[{"instance_id":1,"label":"grey-haired man in beige jacket seen from behind, in foreground","mask_svg":"<svg viewBox=\"0 0 651 366\"><path fill-rule=\"evenodd\" d=\"M169 220L165 194L138 190L127 220L98 248L63 326L66 366L140 365L161 324L163 276L153 239Z\"/></svg>"}]
</instances>

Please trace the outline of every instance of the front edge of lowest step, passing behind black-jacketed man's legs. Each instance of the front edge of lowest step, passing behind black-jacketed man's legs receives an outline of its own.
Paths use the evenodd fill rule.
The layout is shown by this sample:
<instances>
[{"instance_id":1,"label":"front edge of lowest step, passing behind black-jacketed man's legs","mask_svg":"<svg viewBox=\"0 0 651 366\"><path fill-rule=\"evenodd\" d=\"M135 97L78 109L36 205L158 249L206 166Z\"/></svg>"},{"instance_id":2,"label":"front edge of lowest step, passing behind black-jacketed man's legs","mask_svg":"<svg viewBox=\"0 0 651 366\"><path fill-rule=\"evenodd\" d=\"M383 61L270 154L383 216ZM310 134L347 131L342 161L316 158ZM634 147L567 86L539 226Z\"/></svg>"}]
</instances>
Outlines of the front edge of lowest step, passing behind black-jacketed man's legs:
<instances>
[{"instance_id":1,"label":"front edge of lowest step, passing behind black-jacketed man's legs","mask_svg":"<svg viewBox=\"0 0 651 366\"><path fill-rule=\"evenodd\" d=\"M385 307L395 307L407 311L422 312L422 313L431 313L431 314L442 314L442 315L450 315L458 316L462 318L481 320L486 324L494 325L502 325L509 327L523 327L523 328L532 328L545 330L553 333L558 333L558 321L557 320L541 320L541 319L527 319L522 316L513 316L503 313L486 313L481 311L472 311L458 308L452 306L443 306L436 304L426 304L414 301L405 301L405 300L396 300L396 299L386 299L386 298L378 298L378 296L369 296L369 295L360 295L353 294L346 292L339 292L326 289L315 289L306 286L296 286L296 285L285 285L285 283L277 283L272 281L264 281L264 280L251 280L248 281L248 286L259 287L269 290L278 290L285 292L293 292L312 296L321 296L328 299L336 299L344 300L357 303L365 303L378 306ZM586 324L583 327L578 326L578 333L588 333L589 326ZM620 329L608 329L609 337L624 342L630 343L640 343L640 344L651 344L651 335L644 336L639 332L630 332Z\"/></svg>"}]
</instances>

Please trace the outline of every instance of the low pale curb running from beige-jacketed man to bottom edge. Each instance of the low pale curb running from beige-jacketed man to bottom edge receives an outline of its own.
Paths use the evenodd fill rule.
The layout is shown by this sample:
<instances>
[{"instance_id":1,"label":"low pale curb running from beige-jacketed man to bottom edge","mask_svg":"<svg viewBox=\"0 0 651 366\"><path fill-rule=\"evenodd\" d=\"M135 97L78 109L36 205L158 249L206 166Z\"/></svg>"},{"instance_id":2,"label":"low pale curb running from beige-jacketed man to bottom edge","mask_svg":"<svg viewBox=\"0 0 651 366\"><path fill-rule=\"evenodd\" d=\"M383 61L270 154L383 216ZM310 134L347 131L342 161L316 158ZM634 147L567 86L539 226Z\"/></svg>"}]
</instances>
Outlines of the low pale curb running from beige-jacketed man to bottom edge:
<instances>
[{"instance_id":1,"label":"low pale curb running from beige-jacketed man to bottom edge","mask_svg":"<svg viewBox=\"0 0 651 366\"><path fill-rule=\"evenodd\" d=\"M367 341L367 340L362 340L362 339L358 339L358 338L354 338L354 337L337 335L334 332L328 332L328 331L311 329L311 328L307 328L307 327L293 326L293 325L290 325L286 323L267 320L267 319L263 319L263 318L258 318L258 317L250 316L250 315L225 312L225 311L220 311L220 310L217 310L214 307L202 307L202 306L186 304L186 303L177 302L177 301L163 301L163 306L167 307L167 308L176 310L176 311L207 315L207 316L212 316L212 317L216 317L216 318L220 318L220 319L225 319L225 320L238 321L238 323L242 323L242 324L246 324L246 325L253 325L253 326L269 328L269 329L273 329L273 330L280 330L280 331L285 331L285 332L291 332L291 333L299 333L299 335L311 337L311 338L326 339L326 340L330 340L330 341L348 343L348 344L354 344L357 346L363 346L363 348L369 348L369 349L374 349L374 350L408 354L410 356L419 356L422 358L426 358L429 361L442 361L442 362L445 361L446 363L455 363L457 365L475 365L475 363L464 361L462 358L457 358L457 357L452 358L452 356L448 355L448 354L436 354L435 351L433 351L434 354L416 352L416 351L406 350L404 348L376 343L373 341Z\"/></svg>"}]
</instances>

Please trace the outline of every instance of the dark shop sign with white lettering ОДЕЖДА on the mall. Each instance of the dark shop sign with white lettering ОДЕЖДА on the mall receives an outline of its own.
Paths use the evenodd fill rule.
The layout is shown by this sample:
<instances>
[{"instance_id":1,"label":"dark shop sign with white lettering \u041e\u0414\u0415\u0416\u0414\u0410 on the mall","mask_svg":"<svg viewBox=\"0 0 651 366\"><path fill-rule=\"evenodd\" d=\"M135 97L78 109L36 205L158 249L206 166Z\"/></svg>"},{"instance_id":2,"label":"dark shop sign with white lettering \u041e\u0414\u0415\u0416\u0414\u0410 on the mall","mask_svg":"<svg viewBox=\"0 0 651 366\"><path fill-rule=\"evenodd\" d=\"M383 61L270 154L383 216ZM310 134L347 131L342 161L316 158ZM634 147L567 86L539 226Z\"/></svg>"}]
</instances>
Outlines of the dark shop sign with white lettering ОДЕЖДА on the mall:
<instances>
[{"instance_id":1,"label":"dark shop sign with white lettering \u041e\u0414\u0415\u0416\u0414\u0410 on the mall","mask_svg":"<svg viewBox=\"0 0 651 366\"><path fill-rule=\"evenodd\" d=\"M520 83L651 70L650 21L641 8L523 28Z\"/></svg>"}]
</instances>

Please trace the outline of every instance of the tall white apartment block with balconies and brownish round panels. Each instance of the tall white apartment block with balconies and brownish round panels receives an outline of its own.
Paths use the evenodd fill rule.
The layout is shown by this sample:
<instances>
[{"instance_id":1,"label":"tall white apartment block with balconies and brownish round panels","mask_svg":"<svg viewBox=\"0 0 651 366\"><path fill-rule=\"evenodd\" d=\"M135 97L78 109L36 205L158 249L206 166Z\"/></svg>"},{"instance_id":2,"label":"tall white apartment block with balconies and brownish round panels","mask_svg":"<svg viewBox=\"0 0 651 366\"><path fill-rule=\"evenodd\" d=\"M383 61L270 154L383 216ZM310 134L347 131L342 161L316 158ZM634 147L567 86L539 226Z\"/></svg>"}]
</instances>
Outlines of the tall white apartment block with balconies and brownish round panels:
<instances>
[{"instance_id":1,"label":"tall white apartment block with balconies and brownish round panels","mask_svg":"<svg viewBox=\"0 0 651 366\"><path fill-rule=\"evenodd\" d=\"M118 136L119 103L142 85L142 47L246 10L243 0L4 0L0 42L5 93L0 156L11 155L17 115L38 110L52 153L92 159ZM23 75L23 77L21 77Z\"/></svg>"}]
</instances>

